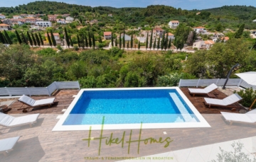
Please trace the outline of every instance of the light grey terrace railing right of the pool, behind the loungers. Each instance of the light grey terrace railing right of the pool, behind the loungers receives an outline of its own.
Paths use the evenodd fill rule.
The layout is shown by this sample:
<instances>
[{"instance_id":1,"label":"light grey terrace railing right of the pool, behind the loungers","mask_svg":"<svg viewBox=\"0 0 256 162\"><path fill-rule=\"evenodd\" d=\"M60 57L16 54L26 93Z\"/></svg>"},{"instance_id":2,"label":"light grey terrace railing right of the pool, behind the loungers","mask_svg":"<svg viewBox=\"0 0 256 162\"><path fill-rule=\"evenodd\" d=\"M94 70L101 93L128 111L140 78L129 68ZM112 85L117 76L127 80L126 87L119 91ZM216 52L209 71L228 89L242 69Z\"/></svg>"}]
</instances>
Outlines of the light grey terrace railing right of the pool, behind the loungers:
<instances>
[{"instance_id":1,"label":"light grey terrace railing right of the pool, behind the loungers","mask_svg":"<svg viewBox=\"0 0 256 162\"><path fill-rule=\"evenodd\" d=\"M178 83L178 87L188 87L188 86L209 86L215 83L217 86L224 86L226 79L181 79ZM226 86L241 86L243 88L253 88L256 90L256 86L252 86L242 79L228 79Z\"/></svg>"}]
</instances>

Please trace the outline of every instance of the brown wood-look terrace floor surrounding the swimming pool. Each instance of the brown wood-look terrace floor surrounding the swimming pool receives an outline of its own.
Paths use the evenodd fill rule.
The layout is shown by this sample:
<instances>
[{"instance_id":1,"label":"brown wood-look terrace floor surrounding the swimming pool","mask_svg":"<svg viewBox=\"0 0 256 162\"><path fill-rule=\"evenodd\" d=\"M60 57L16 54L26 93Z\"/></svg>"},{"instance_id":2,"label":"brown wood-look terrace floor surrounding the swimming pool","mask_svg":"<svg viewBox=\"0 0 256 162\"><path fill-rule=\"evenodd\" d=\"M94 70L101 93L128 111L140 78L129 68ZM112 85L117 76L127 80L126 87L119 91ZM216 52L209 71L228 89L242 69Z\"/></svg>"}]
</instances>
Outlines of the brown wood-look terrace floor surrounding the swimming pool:
<instances>
[{"instance_id":1,"label":"brown wood-look terrace floor surrounding the swimming pool","mask_svg":"<svg viewBox=\"0 0 256 162\"><path fill-rule=\"evenodd\" d=\"M11 105L11 110L8 114L19 116L29 113L41 113L38 122L34 127L30 128L28 125L21 127L14 127L11 129L2 130L3 134L0 139L8 137L21 136L18 144L14 147L8 156L0 154L1 161L85 161L85 157L140 157L149 156L151 154L161 154L168 151L175 151L179 149L186 149L195 146L203 146L206 144L214 144L223 141L230 141L235 139L242 139L246 137L256 136L256 125L236 124L232 126L223 120L220 111L232 112L229 109L221 108L206 108L203 104L203 97L191 97L188 94L187 88L181 88L183 93L195 105L199 112L210 124L210 128L186 128L186 129L142 129L142 139L153 137L171 137L173 142L164 148L164 144L144 144L141 142L139 147L139 154L137 153L138 144L132 143L130 152L128 151L128 144L112 144L107 146L102 142L100 156L98 155L99 141L91 141L88 147L87 141L82 139L88 138L88 131L72 131L72 132L52 132L51 130L58 122L56 117L63 114L62 110L68 108L68 105L73 100L73 95L78 93L78 90L64 90L55 94L57 103L52 108L41 108L29 110L27 113L22 113L21 110L16 110L21 107L21 103L14 103ZM225 98L225 94L216 90L217 98ZM48 97L33 97L34 99L48 98ZM236 111L238 112L238 110ZM93 126L92 126L93 127ZM129 140L130 130L104 130L103 137L122 138L123 132L126 131L124 141ZM166 132L167 134L164 134ZM99 131L92 131L91 137L100 137ZM139 129L132 130L132 139L139 138ZM86 160L86 161L116 161L116 160Z\"/></svg>"}]
</instances>

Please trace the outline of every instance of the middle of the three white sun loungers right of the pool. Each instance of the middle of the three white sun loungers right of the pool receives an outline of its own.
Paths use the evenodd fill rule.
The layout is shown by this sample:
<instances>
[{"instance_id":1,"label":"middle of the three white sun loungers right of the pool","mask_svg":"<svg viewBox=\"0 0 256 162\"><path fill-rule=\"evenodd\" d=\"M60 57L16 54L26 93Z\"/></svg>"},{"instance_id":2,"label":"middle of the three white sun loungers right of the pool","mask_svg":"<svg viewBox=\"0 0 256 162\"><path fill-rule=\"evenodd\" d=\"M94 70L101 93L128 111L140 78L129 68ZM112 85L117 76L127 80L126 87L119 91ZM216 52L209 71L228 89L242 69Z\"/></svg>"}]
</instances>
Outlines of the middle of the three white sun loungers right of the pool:
<instances>
[{"instance_id":1,"label":"middle of the three white sun loungers right of the pool","mask_svg":"<svg viewBox=\"0 0 256 162\"><path fill-rule=\"evenodd\" d=\"M242 100L242 98L238 95L238 93L235 93L231 96L228 96L222 100L215 99L215 98L203 98L206 102L206 105L209 106L220 106L220 107L235 107L232 105L233 103L237 103L238 101Z\"/></svg>"}]
</instances>

